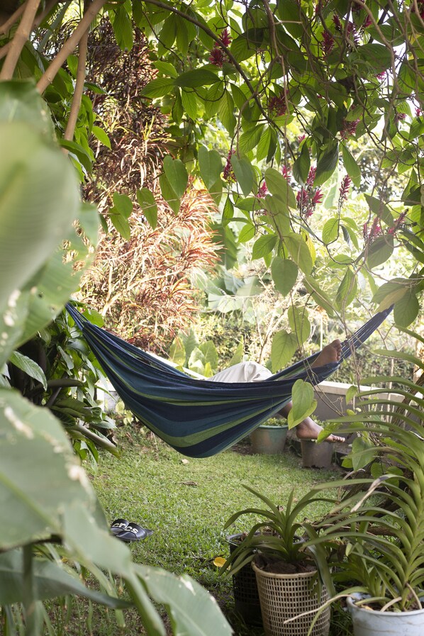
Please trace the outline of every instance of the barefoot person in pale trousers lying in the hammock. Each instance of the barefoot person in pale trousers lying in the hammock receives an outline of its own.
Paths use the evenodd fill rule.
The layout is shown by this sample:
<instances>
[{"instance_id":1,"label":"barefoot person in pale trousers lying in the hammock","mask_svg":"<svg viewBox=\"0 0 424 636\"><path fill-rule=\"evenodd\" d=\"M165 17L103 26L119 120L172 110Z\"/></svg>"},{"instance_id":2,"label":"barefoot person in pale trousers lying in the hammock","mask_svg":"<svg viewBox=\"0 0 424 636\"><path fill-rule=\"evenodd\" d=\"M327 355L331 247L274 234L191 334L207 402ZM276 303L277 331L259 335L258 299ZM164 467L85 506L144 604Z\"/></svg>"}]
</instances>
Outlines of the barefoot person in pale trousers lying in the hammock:
<instances>
[{"instance_id":1,"label":"barefoot person in pale trousers lying in the hammock","mask_svg":"<svg viewBox=\"0 0 424 636\"><path fill-rule=\"evenodd\" d=\"M342 351L342 343L340 340L333 340L330 345L326 345L320 352L320 355L311 364L313 367L322 367L324 364L330 362L338 362L340 360L340 354ZM260 382L266 380L272 376L272 373L257 362L239 362L233 364L232 367L224 369L217 374L208 378L213 382ZM292 403L289 402L281 408L281 415L285 418L291 411ZM296 426L296 436L299 440L316 440L323 427L317 424L312 418L305 418L301 423ZM327 442L345 442L345 437L339 437L339 435L328 435Z\"/></svg>"}]
</instances>

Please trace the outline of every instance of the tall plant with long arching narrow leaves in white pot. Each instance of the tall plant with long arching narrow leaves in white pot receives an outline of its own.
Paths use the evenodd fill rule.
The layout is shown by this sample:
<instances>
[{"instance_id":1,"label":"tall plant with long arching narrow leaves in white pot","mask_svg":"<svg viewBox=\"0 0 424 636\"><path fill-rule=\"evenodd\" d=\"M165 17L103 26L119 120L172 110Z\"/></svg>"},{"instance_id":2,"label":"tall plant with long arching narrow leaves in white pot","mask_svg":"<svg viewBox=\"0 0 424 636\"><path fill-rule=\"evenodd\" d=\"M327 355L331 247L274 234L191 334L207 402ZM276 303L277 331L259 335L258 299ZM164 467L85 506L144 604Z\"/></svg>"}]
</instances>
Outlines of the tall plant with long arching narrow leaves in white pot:
<instances>
[{"instance_id":1,"label":"tall plant with long arching narrow leaves in white pot","mask_svg":"<svg viewBox=\"0 0 424 636\"><path fill-rule=\"evenodd\" d=\"M317 527L318 542L344 546L333 580L348 597L355 636L424 632L424 374L417 383L390 379L398 386L391 398L375 398L381 389L360 394L362 412L349 427L362 432L352 452L360 472Z\"/></svg>"}]
</instances>

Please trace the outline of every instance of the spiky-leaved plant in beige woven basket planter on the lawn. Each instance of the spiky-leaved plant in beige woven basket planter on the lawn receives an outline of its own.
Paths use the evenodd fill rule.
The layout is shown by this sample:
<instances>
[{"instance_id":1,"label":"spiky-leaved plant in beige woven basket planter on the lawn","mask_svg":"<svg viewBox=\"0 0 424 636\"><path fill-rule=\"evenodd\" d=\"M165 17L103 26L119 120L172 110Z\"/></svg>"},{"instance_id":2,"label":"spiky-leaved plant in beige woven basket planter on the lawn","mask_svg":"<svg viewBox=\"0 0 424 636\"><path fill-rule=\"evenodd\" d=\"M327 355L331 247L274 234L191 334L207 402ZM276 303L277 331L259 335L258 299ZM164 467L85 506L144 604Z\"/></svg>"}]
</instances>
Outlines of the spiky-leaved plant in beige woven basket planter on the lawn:
<instances>
[{"instance_id":1,"label":"spiky-leaved plant in beige woven basket planter on the lawn","mask_svg":"<svg viewBox=\"0 0 424 636\"><path fill-rule=\"evenodd\" d=\"M234 576L253 562L265 634L306 636L313 620L308 610L318 610L328 599L327 588L318 574L327 551L325 542L306 547L303 535L312 538L316 537L316 532L310 524L297 519L306 506L316 501L328 501L328 498L310 491L295 503L292 491L283 509L250 486L245 488L260 498L267 508L245 508L225 523L226 529L242 515L254 514L261 518L240 537L223 571ZM322 569L328 573L327 567ZM326 576L325 584L333 590L330 577ZM330 609L327 608L320 614L311 633L326 636L329 626Z\"/></svg>"}]
</instances>

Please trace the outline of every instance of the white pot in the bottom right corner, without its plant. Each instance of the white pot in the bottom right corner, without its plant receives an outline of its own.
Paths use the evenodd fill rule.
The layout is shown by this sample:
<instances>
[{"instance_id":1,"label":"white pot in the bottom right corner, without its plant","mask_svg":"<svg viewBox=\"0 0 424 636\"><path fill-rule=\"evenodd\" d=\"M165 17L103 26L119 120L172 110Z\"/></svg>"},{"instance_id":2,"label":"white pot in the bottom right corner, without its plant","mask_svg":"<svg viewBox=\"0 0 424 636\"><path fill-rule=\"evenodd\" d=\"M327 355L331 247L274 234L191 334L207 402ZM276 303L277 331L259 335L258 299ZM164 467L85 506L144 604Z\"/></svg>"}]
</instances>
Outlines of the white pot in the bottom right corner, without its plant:
<instances>
[{"instance_id":1,"label":"white pot in the bottom right corner, without its plant","mask_svg":"<svg viewBox=\"0 0 424 636\"><path fill-rule=\"evenodd\" d=\"M379 612L357 606L347 597L352 614L354 636L423 636L424 610Z\"/></svg>"}]
</instances>

